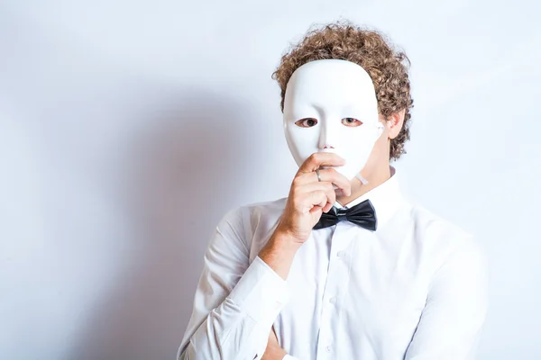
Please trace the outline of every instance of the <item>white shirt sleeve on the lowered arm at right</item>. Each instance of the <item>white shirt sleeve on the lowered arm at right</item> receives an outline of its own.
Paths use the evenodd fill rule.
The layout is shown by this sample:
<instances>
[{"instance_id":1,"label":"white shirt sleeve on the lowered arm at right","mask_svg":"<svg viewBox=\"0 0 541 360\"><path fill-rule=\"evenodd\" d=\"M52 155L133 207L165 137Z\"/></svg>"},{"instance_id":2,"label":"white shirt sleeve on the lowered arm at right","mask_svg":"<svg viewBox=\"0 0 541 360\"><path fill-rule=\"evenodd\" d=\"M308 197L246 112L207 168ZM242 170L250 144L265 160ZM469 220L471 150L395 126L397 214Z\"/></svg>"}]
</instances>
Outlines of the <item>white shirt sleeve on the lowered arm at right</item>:
<instances>
[{"instance_id":1,"label":"white shirt sleeve on the lowered arm at right","mask_svg":"<svg viewBox=\"0 0 541 360\"><path fill-rule=\"evenodd\" d=\"M474 359L487 307L487 259L467 238L436 271L405 360Z\"/></svg>"}]
</instances>

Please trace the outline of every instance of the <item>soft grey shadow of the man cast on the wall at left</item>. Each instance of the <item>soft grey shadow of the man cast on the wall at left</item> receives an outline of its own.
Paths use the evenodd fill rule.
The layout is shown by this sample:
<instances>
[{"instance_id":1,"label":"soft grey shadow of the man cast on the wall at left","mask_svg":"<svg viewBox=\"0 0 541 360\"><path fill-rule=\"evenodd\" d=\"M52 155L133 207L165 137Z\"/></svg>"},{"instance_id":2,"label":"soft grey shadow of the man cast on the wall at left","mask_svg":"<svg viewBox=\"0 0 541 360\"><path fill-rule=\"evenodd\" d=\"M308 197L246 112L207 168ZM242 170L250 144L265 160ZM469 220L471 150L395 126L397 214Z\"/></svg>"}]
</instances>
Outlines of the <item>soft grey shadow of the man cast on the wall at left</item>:
<instances>
[{"instance_id":1,"label":"soft grey shadow of the man cast on the wall at left","mask_svg":"<svg viewBox=\"0 0 541 360\"><path fill-rule=\"evenodd\" d=\"M221 94L180 93L143 119L127 152L118 185L136 227L130 266L89 311L66 359L175 358L210 236L242 191L235 167L247 161L250 118Z\"/></svg>"}]
</instances>

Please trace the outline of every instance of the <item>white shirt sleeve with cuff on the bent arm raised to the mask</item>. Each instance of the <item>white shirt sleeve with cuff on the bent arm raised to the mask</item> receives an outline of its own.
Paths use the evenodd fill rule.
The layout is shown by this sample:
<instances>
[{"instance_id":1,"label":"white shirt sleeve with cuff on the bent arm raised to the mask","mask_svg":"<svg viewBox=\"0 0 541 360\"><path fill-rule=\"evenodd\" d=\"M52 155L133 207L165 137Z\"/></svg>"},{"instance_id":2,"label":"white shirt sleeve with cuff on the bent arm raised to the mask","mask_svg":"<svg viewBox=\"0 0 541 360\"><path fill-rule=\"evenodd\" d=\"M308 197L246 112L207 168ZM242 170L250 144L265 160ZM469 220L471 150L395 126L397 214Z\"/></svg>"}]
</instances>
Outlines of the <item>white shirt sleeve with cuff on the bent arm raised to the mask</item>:
<instances>
[{"instance_id":1,"label":"white shirt sleeve with cuff on the bent arm raised to the mask","mask_svg":"<svg viewBox=\"0 0 541 360\"><path fill-rule=\"evenodd\" d=\"M250 264L243 229L242 207L215 228L178 360L260 359L267 347L272 323L289 301L287 283L260 257Z\"/></svg>"}]
</instances>

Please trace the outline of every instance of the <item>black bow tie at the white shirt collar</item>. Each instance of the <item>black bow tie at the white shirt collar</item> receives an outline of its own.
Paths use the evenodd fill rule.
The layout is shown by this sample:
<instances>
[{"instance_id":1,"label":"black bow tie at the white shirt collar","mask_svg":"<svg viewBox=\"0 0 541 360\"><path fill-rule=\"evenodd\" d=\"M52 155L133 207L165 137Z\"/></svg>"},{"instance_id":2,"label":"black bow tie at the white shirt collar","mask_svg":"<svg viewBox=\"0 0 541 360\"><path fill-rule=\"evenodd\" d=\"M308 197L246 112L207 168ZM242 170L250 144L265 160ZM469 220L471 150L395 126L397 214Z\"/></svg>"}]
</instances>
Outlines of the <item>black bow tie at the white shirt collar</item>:
<instances>
[{"instance_id":1,"label":"black bow tie at the white shirt collar","mask_svg":"<svg viewBox=\"0 0 541 360\"><path fill-rule=\"evenodd\" d=\"M333 226L338 221L348 220L353 224L359 225L364 229L375 231L378 227L376 211L370 200L356 204L351 209L337 209L335 206L328 212L322 212L321 218L317 221L313 229L323 229Z\"/></svg>"}]
</instances>

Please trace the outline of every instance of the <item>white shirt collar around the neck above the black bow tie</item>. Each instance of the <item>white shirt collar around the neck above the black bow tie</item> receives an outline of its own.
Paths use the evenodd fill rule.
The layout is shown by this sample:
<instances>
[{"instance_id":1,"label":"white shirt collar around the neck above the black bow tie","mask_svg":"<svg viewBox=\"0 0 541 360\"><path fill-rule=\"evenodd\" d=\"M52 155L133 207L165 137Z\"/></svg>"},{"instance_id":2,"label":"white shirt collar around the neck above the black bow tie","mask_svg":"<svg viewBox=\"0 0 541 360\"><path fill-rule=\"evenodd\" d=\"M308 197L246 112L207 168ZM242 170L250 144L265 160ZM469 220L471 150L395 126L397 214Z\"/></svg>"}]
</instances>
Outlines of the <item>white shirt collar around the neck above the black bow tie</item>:
<instances>
[{"instance_id":1,"label":"white shirt collar around the neck above the black bow tie","mask_svg":"<svg viewBox=\"0 0 541 360\"><path fill-rule=\"evenodd\" d=\"M390 219L404 199L400 191L399 178L394 166L390 166L390 178L385 182L374 187L367 193L363 193L358 198L348 202L345 206L342 206L340 202L335 202L335 207L337 209L350 209L366 199L370 199L376 211L379 226Z\"/></svg>"}]
</instances>

